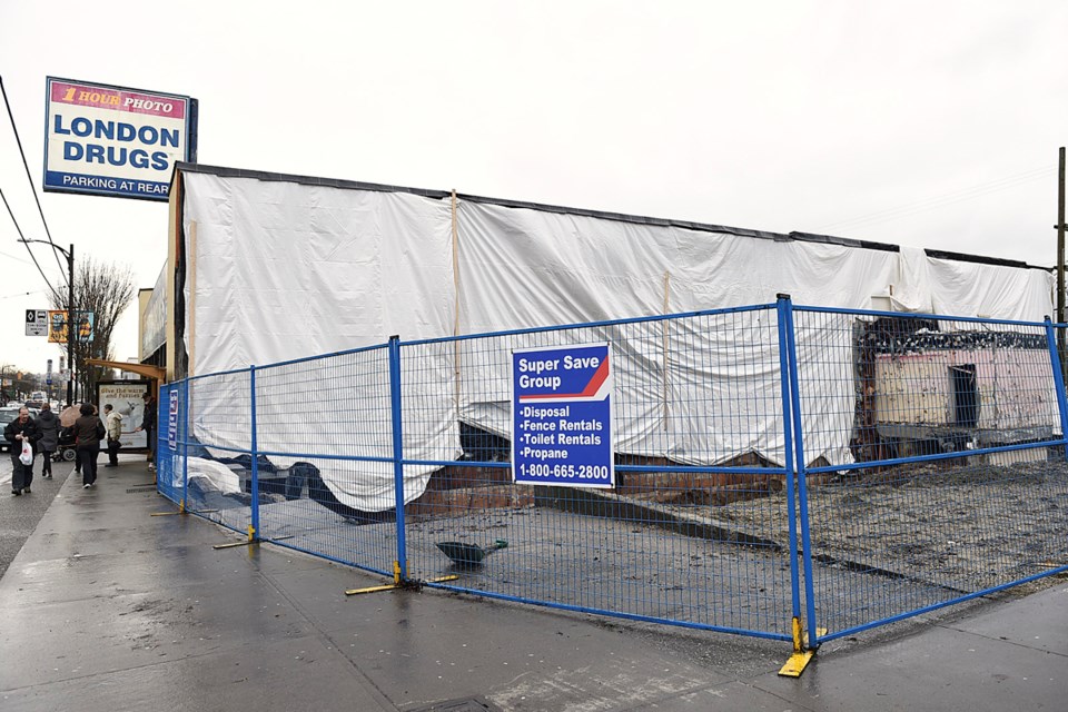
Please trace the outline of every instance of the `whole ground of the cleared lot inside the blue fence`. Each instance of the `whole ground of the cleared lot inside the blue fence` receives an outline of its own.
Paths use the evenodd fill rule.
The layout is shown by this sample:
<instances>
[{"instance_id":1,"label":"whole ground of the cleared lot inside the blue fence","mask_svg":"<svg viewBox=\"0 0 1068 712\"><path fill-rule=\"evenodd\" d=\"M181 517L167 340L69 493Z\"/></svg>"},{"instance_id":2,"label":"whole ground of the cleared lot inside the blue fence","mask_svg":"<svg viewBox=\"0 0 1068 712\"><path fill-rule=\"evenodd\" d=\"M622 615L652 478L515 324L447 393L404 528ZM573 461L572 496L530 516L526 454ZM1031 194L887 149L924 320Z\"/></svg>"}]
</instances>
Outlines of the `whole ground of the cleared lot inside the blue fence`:
<instances>
[{"instance_id":1,"label":"whole ground of the cleared lot inside the blue fence","mask_svg":"<svg viewBox=\"0 0 1068 712\"><path fill-rule=\"evenodd\" d=\"M808 494L815 613L831 632L1068 565L1064 463L911 466L839 477ZM721 506L611 493L583 493L587 500L575 504L575 496L570 511L526 506L409 521L408 574L456 576L446 585L564 606L790 634L785 492ZM208 516L244 531L248 508L219 500ZM260 517L264 534L283 545L392 571L392 523L353 525L309 500L264 505ZM507 548L478 566L456 566L436 546L497 538Z\"/></svg>"}]
</instances>

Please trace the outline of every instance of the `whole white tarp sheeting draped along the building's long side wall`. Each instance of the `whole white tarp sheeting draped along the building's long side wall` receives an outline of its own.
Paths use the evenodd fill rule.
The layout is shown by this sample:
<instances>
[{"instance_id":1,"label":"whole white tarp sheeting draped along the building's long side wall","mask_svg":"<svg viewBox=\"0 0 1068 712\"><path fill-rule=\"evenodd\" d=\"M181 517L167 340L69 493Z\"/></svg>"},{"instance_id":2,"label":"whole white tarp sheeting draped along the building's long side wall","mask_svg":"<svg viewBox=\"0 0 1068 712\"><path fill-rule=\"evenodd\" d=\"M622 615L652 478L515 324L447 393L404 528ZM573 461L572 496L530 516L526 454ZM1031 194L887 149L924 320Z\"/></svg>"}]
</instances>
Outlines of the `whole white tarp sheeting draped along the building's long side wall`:
<instances>
[{"instance_id":1,"label":"whole white tarp sheeting draped along the building's long side wall","mask_svg":"<svg viewBox=\"0 0 1068 712\"><path fill-rule=\"evenodd\" d=\"M186 235L197 226L196 344L189 343L188 316L185 330L196 374L382 344L390 334L449 335L457 285L462 334L767 304L778 293L799 305L842 308L871 308L873 295L892 291L901 312L1024 320L1051 312L1052 277L1038 269L465 200L457 206L454 281L447 199L198 172L184 179ZM187 277L187 314L189 298ZM651 323L562 336L613 340L616 413L629 415L615 423L619 452L700 465L756 452L782 464L781 408L768 397L779 392L778 343L756 336L760 319L774 318L773 312L740 315L732 324L742 330L734 333L694 334L684 324L665 329ZM759 334L768 333L764 324ZM666 349L649 346L664 337ZM850 462L852 364L825 354L851 348L850 335L834 336L843 342L838 344L799 324L797 338L801 378L815 378L805 369L819 364L820 383L827 385L820 402L803 413L811 434L807 456L823 456L832 465ZM740 360L735 344L745 339L758 348ZM695 344L711 359L689 358ZM451 350L428 353L421 352L429 358L418 366L421 393L403 394L406 400L419 396L418 409L404 415L406 457L456 457L458 421L510 436L508 403L485 390L492 379L506 378L508 354L479 360L479 374L461 374L457 412ZM828 373L831 364L840 373ZM427 369L441 376L437 393L426 392ZM661 421L664 389L647 387L651 373L662 374L662 385L668 382L666 409L676 424L670 431ZM639 383L646 387L626 385ZM357 379L332 387L358 398L369 394L370 384ZM722 412L724 404L736 412ZM736 432L739 423L748 432ZM380 423L339 454L389 453L389 423ZM260 448L283 445L261 442ZM352 484L354 467L359 485ZM432 469L406 469L407 500L422 493ZM343 503L368 511L392 506L392 478L388 467L375 463L324 469Z\"/></svg>"}]
</instances>

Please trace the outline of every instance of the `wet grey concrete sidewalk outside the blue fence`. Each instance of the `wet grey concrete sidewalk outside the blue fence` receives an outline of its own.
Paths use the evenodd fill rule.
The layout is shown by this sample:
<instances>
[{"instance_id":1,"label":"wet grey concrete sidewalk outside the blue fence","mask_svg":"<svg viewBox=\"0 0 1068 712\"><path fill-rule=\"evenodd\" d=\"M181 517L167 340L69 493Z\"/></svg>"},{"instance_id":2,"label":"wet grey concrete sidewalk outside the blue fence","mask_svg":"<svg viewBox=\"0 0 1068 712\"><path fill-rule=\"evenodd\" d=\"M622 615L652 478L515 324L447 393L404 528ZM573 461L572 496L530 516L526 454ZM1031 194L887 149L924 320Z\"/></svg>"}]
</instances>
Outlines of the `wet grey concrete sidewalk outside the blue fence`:
<instances>
[{"instance_id":1,"label":"wet grey concrete sidewalk outside the blue fence","mask_svg":"<svg viewBox=\"0 0 1068 712\"><path fill-rule=\"evenodd\" d=\"M0 580L0 709L1065 710L1068 582L825 645L386 583L174 511L144 462L62 486Z\"/></svg>"}]
</instances>

